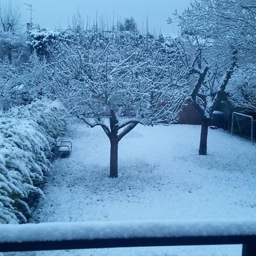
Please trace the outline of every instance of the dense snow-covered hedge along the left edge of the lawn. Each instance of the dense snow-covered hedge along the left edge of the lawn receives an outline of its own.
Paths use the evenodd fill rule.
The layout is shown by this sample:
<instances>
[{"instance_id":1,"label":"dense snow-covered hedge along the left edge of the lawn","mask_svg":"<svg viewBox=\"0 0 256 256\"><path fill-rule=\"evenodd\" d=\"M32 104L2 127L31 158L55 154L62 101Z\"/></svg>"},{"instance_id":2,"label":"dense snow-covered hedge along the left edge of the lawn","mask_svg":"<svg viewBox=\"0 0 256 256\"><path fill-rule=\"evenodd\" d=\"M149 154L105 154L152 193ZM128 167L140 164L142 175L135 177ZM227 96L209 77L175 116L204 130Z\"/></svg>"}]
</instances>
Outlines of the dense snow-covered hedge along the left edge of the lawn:
<instances>
[{"instance_id":1,"label":"dense snow-covered hedge along the left edge of the lawn","mask_svg":"<svg viewBox=\"0 0 256 256\"><path fill-rule=\"evenodd\" d=\"M55 138L64 133L62 113L50 101L0 113L0 223L27 221L29 199L42 194Z\"/></svg>"}]
</instances>

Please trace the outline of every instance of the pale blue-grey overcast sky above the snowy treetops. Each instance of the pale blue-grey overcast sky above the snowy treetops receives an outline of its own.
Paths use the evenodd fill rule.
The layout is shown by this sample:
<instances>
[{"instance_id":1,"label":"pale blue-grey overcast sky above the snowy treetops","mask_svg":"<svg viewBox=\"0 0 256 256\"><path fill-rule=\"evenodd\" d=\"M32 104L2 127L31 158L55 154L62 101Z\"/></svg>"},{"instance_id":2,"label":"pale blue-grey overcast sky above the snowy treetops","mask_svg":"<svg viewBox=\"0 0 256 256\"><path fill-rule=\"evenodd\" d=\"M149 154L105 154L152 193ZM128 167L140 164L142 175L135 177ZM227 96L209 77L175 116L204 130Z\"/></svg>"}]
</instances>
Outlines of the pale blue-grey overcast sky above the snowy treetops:
<instances>
[{"instance_id":1,"label":"pale blue-grey overcast sky above the snowy treetops","mask_svg":"<svg viewBox=\"0 0 256 256\"><path fill-rule=\"evenodd\" d=\"M4 0L7 1L7 0ZM24 19L29 22L30 14L23 3L32 5L33 22L40 27L67 27L68 18L76 13L77 8L86 20L88 16L90 23L99 16L108 16L115 20L133 16L139 27L146 25L146 16L150 30L173 33L177 27L167 24L167 19L177 10L181 13L189 5L190 0L16 0L20 3L20 9L24 13ZM2 0L3 2L3 0ZM105 18L106 19L106 18Z\"/></svg>"}]
</instances>

